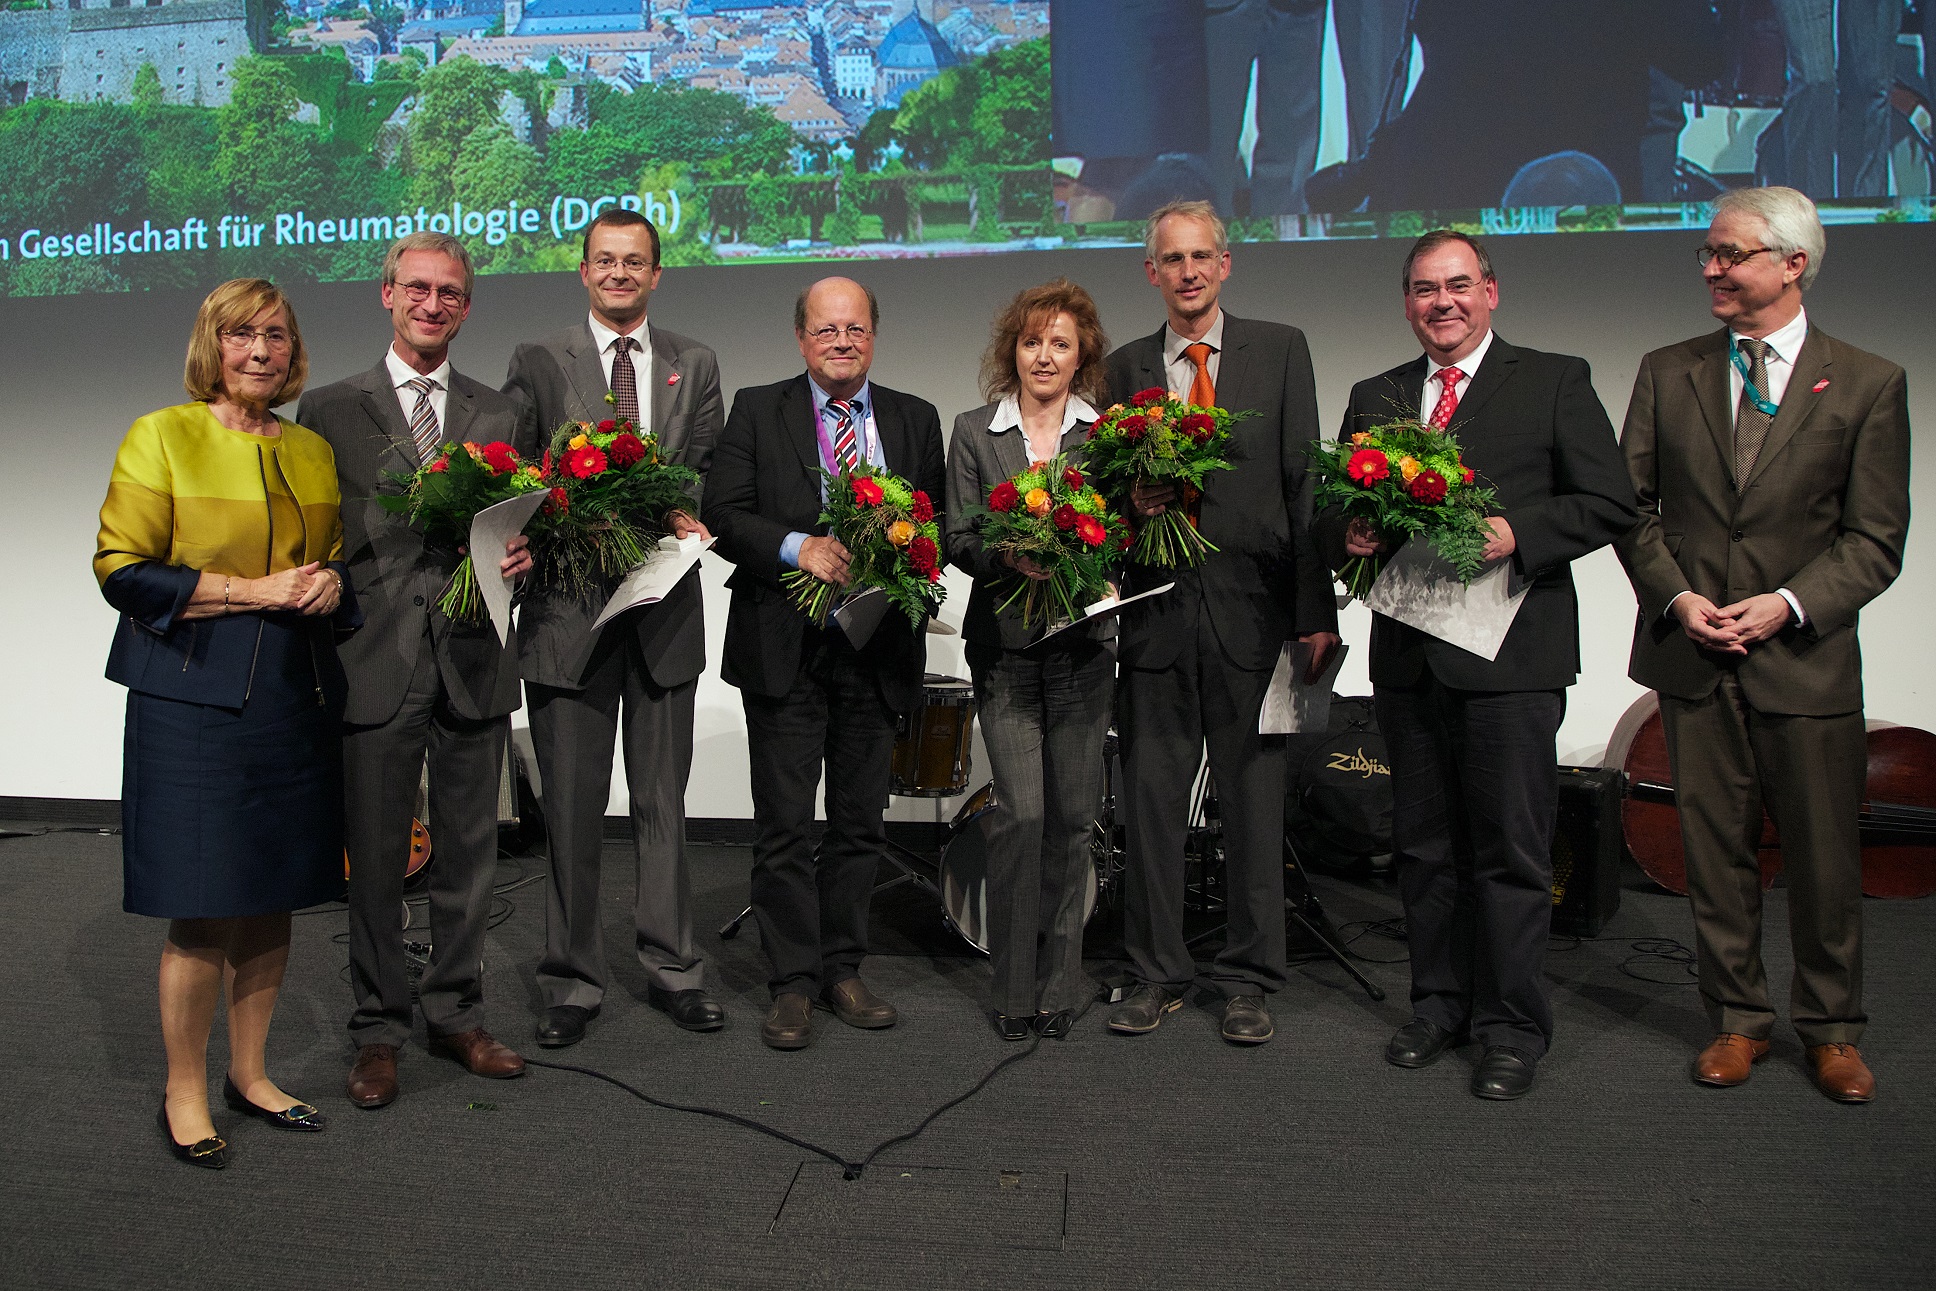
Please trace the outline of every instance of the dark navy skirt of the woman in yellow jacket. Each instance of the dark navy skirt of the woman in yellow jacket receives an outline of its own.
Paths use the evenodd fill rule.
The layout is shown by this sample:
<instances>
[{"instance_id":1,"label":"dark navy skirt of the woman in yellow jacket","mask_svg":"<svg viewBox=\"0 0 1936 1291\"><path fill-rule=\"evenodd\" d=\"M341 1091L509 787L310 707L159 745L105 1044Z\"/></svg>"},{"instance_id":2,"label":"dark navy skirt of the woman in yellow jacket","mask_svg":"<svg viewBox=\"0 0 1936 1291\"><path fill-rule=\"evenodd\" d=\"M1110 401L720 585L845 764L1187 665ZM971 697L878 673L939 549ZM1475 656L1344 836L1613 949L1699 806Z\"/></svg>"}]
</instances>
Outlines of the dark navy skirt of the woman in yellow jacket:
<instances>
[{"instance_id":1,"label":"dark navy skirt of the woman in yellow jacket","mask_svg":"<svg viewBox=\"0 0 1936 1291\"><path fill-rule=\"evenodd\" d=\"M343 896L343 714L300 627L263 623L242 708L128 693L122 908L230 919Z\"/></svg>"}]
</instances>

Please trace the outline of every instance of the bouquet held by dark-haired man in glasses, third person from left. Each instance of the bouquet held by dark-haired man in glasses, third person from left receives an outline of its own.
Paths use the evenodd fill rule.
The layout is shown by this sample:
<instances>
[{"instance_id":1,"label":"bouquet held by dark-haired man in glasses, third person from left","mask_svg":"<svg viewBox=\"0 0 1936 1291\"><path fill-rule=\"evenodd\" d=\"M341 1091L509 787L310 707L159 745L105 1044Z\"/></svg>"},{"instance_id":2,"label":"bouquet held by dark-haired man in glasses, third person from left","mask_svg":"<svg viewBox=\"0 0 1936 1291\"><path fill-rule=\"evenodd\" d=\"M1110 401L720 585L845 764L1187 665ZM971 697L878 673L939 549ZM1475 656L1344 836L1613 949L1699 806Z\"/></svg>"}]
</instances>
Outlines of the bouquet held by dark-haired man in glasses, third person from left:
<instances>
[{"instance_id":1,"label":"bouquet held by dark-haired man in glasses, third person from left","mask_svg":"<svg viewBox=\"0 0 1936 1291\"><path fill-rule=\"evenodd\" d=\"M629 420L565 422L544 455L544 577L577 594L650 559L666 517L693 505L699 472L666 461L658 435Z\"/></svg>"}]
</instances>

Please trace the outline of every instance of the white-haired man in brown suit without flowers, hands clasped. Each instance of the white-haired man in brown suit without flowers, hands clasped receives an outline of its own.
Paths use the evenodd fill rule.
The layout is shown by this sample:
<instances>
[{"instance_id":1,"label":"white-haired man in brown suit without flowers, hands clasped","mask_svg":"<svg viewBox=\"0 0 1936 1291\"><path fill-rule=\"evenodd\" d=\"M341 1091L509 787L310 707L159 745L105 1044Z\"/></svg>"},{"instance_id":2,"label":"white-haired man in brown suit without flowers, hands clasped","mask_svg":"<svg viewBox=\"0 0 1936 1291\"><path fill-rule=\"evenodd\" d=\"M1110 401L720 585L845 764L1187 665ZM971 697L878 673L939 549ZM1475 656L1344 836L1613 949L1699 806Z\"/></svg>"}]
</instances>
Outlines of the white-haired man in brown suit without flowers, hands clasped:
<instances>
[{"instance_id":1,"label":"white-haired man in brown suit without flowers, hands clasped","mask_svg":"<svg viewBox=\"0 0 1936 1291\"><path fill-rule=\"evenodd\" d=\"M1866 751L1857 612L1903 565L1903 370L1802 310L1822 265L1793 188L1721 195L1702 273L1723 331L1648 354L1622 447L1640 523L1618 544L1640 598L1630 676L1661 693L1680 797L1700 991L1715 1039L1694 1078L1735 1086L1768 1053L1754 846L1768 805L1789 886L1795 1030L1816 1086L1862 1103Z\"/></svg>"}]
</instances>

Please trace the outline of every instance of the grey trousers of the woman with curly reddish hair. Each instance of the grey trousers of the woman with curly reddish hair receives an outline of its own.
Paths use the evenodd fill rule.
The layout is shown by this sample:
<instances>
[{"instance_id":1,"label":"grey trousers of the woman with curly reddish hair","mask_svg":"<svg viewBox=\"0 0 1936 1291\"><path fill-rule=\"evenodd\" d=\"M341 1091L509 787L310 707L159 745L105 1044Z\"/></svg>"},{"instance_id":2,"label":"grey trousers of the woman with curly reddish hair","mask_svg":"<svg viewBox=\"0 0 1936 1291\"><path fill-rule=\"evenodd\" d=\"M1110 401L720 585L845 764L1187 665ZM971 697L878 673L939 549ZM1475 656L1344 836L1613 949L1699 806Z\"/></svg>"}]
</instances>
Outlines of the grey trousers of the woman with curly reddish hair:
<instances>
[{"instance_id":1,"label":"grey trousers of the woman with curly reddish hair","mask_svg":"<svg viewBox=\"0 0 1936 1291\"><path fill-rule=\"evenodd\" d=\"M1074 1008L1090 836L1102 809L1115 652L970 646L982 741L995 772L987 825L989 1006L1011 1018Z\"/></svg>"}]
</instances>

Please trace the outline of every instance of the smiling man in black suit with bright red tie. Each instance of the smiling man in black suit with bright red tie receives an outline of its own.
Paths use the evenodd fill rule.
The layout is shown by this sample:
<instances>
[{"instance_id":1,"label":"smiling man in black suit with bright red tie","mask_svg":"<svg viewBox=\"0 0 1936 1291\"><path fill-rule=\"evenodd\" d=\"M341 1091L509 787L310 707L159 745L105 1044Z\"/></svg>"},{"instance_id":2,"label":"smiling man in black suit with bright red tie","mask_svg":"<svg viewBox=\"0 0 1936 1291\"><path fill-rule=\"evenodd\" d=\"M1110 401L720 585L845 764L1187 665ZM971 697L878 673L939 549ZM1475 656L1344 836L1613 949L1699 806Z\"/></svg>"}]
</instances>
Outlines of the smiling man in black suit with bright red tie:
<instances>
[{"instance_id":1,"label":"smiling man in black suit with bright red tie","mask_svg":"<svg viewBox=\"0 0 1936 1291\"><path fill-rule=\"evenodd\" d=\"M1498 279L1460 232L1419 238L1402 277L1425 354L1351 389L1344 435L1423 408L1458 435L1498 492L1489 561L1531 581L1491 660L1382 614L1371 683L1392 757L1392 844L1411 948L1411 1022L1384 1049L1427 1066L1471 1037L1479 1097L1520 1097L1553 1041L1543 964L1553 923L1555 736L1580 672L1570 561L1634 523L1586 360L1508 345L1493 331ZM1361 519L1313 525L1332 567L1386 548Z\"/></svg>"}]
</instances>

